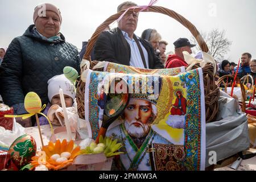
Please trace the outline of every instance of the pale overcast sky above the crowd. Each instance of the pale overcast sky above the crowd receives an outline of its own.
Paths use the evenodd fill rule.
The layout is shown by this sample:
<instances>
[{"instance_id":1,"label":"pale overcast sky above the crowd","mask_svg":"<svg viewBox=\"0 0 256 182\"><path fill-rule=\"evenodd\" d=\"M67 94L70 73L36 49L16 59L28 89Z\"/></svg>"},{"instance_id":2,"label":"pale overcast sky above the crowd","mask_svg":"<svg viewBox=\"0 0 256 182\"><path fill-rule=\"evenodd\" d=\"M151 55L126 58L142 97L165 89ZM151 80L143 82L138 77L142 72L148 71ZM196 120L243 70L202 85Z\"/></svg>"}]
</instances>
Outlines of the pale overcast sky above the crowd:
<instances>
[{"instance_id":1,"label":"pale overcast sky above the crowd","mask_svg":"<svg viewBox=\"0 0 256 182\"><path fill-rule=\"evenodd\" d=\"M33 24L34 7L40 3L52 3L59 7L63 17L61 33L69 43L81 49L82 41L88 40L96 28L110 15L116 13L121 0L0 0L1 28L0 47L8 47L11 40L24 33ZM134 0L138 5L148 5L150 0ZM176 11L193 23L199 31L212 28L226 30L226 38L232 41L230 52L225 56L238 62L242 52L250 52L256 59L256 1L255 0L159 0L155 6ZM115 27L112 24L110 27ZM180 37L189 38L191 33L176 20L159 13L141 13L135 34L141 36L146 28L155 28L170 43L167 51L174 51L172 44Z\"/></svg>"}]
</instances>

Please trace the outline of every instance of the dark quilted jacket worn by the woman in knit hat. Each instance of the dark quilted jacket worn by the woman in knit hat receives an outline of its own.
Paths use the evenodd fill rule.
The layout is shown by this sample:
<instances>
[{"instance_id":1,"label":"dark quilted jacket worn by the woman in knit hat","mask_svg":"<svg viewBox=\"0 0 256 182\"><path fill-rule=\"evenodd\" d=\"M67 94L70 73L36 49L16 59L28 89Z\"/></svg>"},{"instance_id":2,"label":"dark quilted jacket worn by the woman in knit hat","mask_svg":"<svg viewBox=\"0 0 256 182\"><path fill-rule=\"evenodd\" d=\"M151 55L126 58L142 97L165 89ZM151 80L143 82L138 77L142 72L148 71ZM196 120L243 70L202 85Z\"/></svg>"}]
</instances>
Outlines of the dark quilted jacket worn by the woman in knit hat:
<instances>
[{"instance_id":1,"label":"dark quilted jacket worn by the woman in knit hat","mask_svg":"<svg viewBox=\"0 0 256 182\"><path fill-rule=\"evenodd\" d=\"M0 67L0 94L6 105L14 107L15 114L24 110L24 96L35 92L42 100L48 101L49 78L63 74L66 66L80 73L80 58L77 48L60 40L49 42L40 35L32 34L31 25L26 32L11 42Z\"/></svg>"}]
</instances>

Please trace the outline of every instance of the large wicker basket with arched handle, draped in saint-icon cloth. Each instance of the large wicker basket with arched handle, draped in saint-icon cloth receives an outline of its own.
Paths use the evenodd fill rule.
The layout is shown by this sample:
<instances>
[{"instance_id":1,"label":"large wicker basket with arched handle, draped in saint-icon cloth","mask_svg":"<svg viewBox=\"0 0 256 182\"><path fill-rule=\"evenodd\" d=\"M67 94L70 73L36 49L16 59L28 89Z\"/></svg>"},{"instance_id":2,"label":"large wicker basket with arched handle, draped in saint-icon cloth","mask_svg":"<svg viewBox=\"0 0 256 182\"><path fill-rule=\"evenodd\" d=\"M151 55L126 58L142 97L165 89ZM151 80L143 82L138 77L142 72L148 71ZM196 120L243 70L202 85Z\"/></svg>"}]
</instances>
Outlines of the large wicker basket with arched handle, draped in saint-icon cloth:
<instances>
[{"instance_id":1,"label":"large wicker basket with arched handle, draped in saint-icon cloth","mask_svg":"<svg viewBox=\"0 0 256 182\"><path fill-rule=\"evenodd\" d=\"M135 8L130 9L127 13L138 13L141 8ZM109 24L113 23L115 20L121 16L125 10L119 11L117 14L114 14L110 16L108 19L105 20L94 32L92 35L92 38L90 38L90 41L88 43L88 46L86 48L85 55L83 59L90 61L90 69L94 67L98 62L97 61L91 61L90 60L90 52L92 52L93 46L96 43L96 40L98 36L100 36L101 32L105 30ZM180 14L177 14L175 11L172 11L170 9L167 9L165 7L160 6L150 6L147 10L144 10L144 12L154 12L154 13L162 13L165 15L170 16L171 18L174 18L181 24L183 24L184 27L188 28L188 30L191 32L191 34L195 37L197 40L197 43L199 44L200 48L204 52L208 52L207 44L205 43L204 39L200 35L199 31L196 29L196 27L189 22L187 19L185 19ZM81 73L85 70L85 67L82 67ZM98 70L102 71L102 70ZM213 119L216 117L217 111L218 111L218 97L220 95L220 90L217 88L214 77L213 77L213 67L208 66L203 69L204 71L204 88L205 88L205 109L206 109L206 121L210 122L213 121ZM84 109L84 92L85 92L85 83L79 80L79 83L77 85L77 109L79 113L80 118L84 118L85 115L85 109Z\"/></svg>"}]
</instances>

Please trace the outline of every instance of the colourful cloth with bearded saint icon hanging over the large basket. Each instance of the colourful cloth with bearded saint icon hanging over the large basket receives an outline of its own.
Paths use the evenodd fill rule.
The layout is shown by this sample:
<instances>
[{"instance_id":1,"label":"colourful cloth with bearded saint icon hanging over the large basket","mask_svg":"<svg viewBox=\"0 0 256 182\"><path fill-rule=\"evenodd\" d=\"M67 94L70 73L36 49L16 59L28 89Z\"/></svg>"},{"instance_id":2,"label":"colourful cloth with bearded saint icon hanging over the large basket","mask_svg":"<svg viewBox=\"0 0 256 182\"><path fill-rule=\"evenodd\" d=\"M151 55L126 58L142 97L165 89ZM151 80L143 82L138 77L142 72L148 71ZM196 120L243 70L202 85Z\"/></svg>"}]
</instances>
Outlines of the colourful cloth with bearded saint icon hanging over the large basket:
<instances>
[{"instance_id":1,"label":"colourful cloth with bearded saint icon hanging over the large basket","mask_svg":"<svg viewBox=\"0 0 256 182\"><path fill-rule=\"evenodd\" d=\"M116 78L125 80L126 84L111 88ZM105 105L102 103L106 102L99 101L127 90L125 86L129 88L129 103L106 133L123 143L121 151L125 154L120 155L118 169L154 169L148 153L154 143L183 146L185 157L179 160L181 169L205 169L205 98L201 68L176 76L89 70L86 79L85 120L89 137L94 139L104 122ZM108 110L114 112L119 104L117 100Z\"/></svg>"}]
</instances>

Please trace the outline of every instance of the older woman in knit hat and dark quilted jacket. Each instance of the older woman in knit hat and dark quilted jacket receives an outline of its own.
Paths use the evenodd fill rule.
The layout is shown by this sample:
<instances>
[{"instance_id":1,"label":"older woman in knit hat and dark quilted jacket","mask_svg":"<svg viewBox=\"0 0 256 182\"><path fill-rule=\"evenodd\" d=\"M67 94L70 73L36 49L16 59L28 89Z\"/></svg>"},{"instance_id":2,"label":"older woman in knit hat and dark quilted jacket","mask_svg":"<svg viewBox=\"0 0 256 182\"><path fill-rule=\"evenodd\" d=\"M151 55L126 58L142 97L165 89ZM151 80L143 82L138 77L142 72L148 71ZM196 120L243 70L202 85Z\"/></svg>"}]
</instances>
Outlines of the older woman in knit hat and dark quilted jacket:
<instances>
[{"instance_id":1,"label":"older woman in knit hat and dark quilted jacket","mask_svg":"<svg viewBox=\"0 0 256 182\"><path fill-rule=\"evenodd\" d=\"M38 5L33 20L22 36L13 39L0 67L0 94L6 105L14 107L14 114L27 113L24 97L28 92L37 93L42 104L47 104L47 81L63 74L64 67L80 72L77 48L60 33L60 10L49 3ZM31 126L31 121L18 121Z\"/></svg>"}]
</instances>

